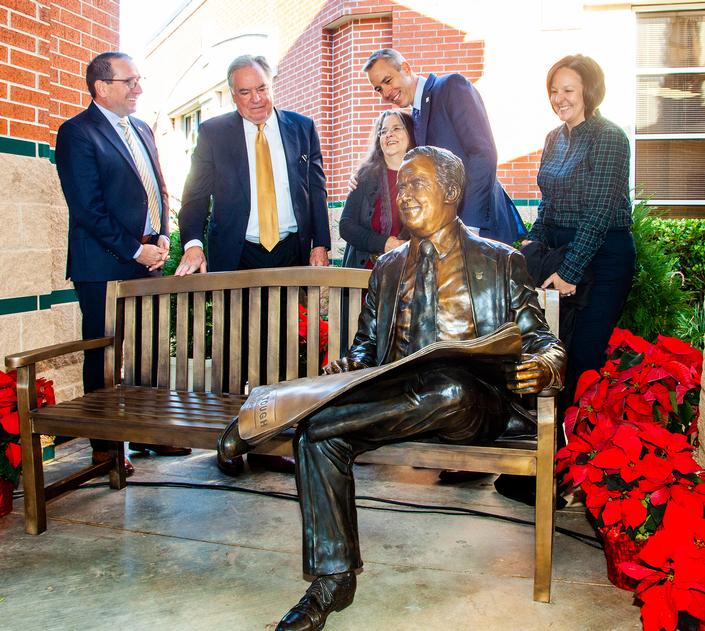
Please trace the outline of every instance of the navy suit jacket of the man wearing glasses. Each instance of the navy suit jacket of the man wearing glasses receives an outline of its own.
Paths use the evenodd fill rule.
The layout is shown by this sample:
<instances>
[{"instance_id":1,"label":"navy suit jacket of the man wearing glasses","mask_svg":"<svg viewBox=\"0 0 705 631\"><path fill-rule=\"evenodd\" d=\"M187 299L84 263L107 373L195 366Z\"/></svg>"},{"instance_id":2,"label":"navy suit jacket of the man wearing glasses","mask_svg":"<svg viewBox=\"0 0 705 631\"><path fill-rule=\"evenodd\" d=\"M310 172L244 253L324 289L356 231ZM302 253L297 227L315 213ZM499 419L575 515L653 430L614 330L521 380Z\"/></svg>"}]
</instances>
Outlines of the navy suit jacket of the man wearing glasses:
<instances>
[{"instance_id":1,"label":"navy suit jacket of the man wearing glasses","mask_svg":"<svg viewBox=\"0 0 705 631\"><path fill-rule=\"evenodd\" d=\"M162 197L161 233L169 234L169 199L154 136L137 118L130 122L147 149ZM59 127L56 168L69 207L66 277L107 281L146 276L133 256L147 220L147 193L129 149L91 103Z\"/></svg>"}]
</instances>

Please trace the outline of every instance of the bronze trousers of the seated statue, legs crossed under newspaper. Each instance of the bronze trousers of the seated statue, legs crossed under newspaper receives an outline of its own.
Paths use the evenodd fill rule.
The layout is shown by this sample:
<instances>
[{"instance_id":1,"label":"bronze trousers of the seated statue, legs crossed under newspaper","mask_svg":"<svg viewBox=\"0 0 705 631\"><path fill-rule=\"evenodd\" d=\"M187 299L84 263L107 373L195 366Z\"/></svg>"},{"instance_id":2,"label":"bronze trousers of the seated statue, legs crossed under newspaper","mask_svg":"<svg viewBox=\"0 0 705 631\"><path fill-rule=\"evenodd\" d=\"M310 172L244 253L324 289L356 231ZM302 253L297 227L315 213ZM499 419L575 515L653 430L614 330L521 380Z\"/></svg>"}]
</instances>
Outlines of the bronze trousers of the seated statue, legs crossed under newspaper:
<instances>
[{"instance_id":1,"label":"bronze trousers of the seated statue, legs crossed under newspaper","mask_svg":"<svg viewBox=\"0 0 705 631\"><path fill-rule=\"evenodd\" d=\"M294 439L304 572L362 567L353 462L382 445L419 438L470 444L504 430L499 390L453 365L408 370L352 391L299 426Z\"/></svg>"}]
</instances>

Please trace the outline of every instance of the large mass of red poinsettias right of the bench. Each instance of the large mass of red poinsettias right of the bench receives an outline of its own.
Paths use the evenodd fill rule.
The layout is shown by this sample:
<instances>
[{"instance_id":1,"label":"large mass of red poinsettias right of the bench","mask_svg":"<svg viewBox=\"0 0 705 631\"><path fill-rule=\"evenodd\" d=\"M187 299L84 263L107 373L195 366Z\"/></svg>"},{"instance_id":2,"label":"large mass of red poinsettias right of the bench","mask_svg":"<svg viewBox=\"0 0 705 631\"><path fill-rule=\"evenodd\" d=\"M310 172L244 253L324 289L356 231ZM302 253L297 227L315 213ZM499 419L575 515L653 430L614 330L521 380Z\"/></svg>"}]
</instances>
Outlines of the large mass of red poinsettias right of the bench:
<instances>
[{"instance_id":1,"label":"large mass of red poinsettias right of the bench","mask_svg":"<svg viewBox=\"0 0 705 631\"><path fill-rule=\"evenodd\" d=\"M583 494L603 537L610 580L636 589L645 628L676 629L679 615L705 621L705 554L697 552L705 542L691 528L705 512L705 473L693 458L702 353L674 338L651 344L622 329L608 353L599 372L579 380L557 472L565 489ZM691 529L674 525L676 515ZM608 549L616 545L634 558L611 565Z\"/></svg>"}]
</instances>

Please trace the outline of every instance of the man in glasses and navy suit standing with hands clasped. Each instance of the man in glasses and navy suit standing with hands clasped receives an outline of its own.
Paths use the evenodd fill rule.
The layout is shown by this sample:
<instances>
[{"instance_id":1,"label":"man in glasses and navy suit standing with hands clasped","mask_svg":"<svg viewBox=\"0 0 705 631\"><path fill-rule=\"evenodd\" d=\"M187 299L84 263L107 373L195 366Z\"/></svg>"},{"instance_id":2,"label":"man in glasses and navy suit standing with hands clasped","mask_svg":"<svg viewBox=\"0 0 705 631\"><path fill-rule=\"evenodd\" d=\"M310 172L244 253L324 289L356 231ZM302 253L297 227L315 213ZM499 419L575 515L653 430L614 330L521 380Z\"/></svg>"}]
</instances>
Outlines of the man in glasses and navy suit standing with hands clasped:
<instances>
[{"instance_id":1,"label":"man in glasses and navy suit standing with hands clasped","mask_svg":"<svg viewBox=\"0 0 705 631\"><path fill-rule=\"evenodd\" d=\"M152 130L130 116L142 94L140 75L124 53L98 55L86 69L93 98L59 127L56 167L69 207L66 277L81 308L84 339L105 334L107 281L159 274L169 255L169 203ZM102 388L103 351L86 351L83 388ZM91 441L93 461L110 457ZM190 450L134 445L160 455ZM134 469L125 461L128 474Z\"/></svg>"}]
</instances>

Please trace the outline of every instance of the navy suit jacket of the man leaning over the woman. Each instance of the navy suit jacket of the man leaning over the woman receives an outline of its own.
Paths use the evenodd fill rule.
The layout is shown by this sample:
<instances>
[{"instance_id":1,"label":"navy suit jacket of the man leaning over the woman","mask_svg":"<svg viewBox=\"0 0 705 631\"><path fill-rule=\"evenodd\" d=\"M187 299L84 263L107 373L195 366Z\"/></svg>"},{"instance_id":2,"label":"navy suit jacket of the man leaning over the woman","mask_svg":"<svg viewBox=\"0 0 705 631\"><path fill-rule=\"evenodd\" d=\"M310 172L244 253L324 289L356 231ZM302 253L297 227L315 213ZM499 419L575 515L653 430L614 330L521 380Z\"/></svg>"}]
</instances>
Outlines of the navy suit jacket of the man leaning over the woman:
<instances>
[{"instance_id":1,"label":"navy suit jacket of the man leaning over the woman","mask_svg":"<svg viewBox=\"0 0 705 631\"><path fill-rule=\"evenodd\" d=\"M497 181L497 150L479 92L459 74L426 79L417 145L452 151L465 165L465 196L458 216L480 235L513 243L526 234L514 203Z\"/></svg>"}]
</instances>

